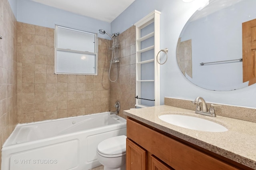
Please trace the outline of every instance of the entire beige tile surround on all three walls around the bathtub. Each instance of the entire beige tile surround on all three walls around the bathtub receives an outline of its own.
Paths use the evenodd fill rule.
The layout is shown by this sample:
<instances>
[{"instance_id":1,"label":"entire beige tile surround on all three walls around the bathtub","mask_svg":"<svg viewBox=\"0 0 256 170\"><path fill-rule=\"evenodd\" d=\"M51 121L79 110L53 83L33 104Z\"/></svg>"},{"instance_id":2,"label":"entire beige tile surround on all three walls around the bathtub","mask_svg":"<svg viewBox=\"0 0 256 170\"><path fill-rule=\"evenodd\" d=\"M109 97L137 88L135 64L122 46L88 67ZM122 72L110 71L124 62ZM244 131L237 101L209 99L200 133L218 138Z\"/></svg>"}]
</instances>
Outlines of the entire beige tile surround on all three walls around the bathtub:
<instances>
[{"instance_id":1,"label":"entire beige tile surround on all three walls around the bathtub","mask_svg":"<svg viewBox=\"0 0 256 170\"><path fill-rule=\"evenodd\" d=\"M0 147L17 123L134 108L135 27L118 36L118 80L108 79L112 40L98 39L98 75L54 74L54 29L17 22L0 0ZM112 67L113 68L113 67ZM111 79L116 72L111 70ZM1 159L1 153L0 153ZM1 162L1 160L0 160Z\"/></svg>"}]
</instances>

